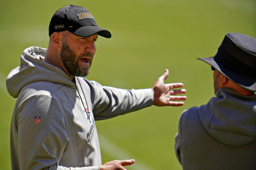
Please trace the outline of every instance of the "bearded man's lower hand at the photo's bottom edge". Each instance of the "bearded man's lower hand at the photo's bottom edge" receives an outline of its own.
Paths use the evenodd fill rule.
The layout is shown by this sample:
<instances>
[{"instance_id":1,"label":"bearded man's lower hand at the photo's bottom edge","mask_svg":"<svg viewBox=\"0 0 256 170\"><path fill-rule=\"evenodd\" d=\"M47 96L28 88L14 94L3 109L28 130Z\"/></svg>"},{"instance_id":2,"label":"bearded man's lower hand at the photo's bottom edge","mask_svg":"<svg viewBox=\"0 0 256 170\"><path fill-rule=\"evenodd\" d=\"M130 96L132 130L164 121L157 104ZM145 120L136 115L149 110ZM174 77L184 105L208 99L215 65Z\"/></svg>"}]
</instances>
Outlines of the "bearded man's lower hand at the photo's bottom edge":
<instances>
[{"instance_id":1,"label":"bearded man's lower hand at the photo's bottom edge","mask_svg":"<svg viewBox=\"0 0 256 170\"><path fill-rule=\"evenodd\" d=\"M99 166L99 170L127 170L123 166L131 165L135 162L134 159L131 160L113 160Z\"/></svg>"}]
</instances>

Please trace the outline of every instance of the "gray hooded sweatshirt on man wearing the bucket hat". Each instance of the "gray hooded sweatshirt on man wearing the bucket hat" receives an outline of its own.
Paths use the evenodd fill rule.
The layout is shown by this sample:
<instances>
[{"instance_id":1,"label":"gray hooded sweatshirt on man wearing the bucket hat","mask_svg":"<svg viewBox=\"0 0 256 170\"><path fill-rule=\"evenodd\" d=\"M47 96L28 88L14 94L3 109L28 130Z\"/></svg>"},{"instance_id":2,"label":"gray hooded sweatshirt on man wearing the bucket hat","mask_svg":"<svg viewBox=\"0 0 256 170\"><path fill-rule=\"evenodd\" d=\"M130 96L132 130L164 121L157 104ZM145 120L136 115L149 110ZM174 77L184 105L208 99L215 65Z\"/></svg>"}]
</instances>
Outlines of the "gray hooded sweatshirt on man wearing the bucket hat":
<instances>
[{"instance_id":1,"label":"gray hooded sweatshirt on man wearing the bucket hat","mask_svg":"<svg viewBox=\"0 0 256 170\"><path fill-rule=\"evenodd\" d=\"M223 87L206 105L184 111L175 153L184 170L255 170L256 95Z\"/></svg>"}]
</instances>

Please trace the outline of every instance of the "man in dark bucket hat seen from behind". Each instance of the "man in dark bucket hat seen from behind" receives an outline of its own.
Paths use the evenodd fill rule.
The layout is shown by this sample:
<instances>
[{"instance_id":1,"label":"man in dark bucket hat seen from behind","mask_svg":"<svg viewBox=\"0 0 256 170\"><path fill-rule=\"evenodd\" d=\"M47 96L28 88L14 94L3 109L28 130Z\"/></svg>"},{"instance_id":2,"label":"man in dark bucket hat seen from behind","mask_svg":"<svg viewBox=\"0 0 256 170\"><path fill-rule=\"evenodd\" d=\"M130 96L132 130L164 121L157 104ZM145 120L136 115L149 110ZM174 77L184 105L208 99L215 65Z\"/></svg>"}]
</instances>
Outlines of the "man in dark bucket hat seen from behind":
<instances>
[{"instance_id":1,"label":"man in dark bucket hat seen from behind","mask_svg":"<svg viewBox=\"0 0 256 170\"><path fill-rule=\"evenodd\" d=\"M216 97L185 110L175 136L183 169L255 169L256 39L227 33L214 57Z\"/></svg>"}]
</instances>

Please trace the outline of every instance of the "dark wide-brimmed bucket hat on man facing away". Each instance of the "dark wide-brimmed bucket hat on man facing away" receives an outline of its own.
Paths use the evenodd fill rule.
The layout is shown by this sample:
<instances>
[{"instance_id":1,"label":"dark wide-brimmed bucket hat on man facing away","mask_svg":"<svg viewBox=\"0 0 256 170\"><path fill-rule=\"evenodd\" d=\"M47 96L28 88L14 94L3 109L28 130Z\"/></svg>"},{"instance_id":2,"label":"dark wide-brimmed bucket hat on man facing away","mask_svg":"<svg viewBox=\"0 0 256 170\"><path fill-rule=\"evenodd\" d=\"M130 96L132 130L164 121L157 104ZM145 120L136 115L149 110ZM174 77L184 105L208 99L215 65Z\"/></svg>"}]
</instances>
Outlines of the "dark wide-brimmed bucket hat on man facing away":
<instances>
[{"instance_id":1,"label":"dark wide-brimmed bucket hat on man facing away","mask_svg":"<svg viewBox=\"0 0 256 170\"><path fill-rule=\"evenodd\" d=\"M256 39L240 33L227 33L210 58L205 61L234 83L256 91Z\"/></svg>"}]
</instances>

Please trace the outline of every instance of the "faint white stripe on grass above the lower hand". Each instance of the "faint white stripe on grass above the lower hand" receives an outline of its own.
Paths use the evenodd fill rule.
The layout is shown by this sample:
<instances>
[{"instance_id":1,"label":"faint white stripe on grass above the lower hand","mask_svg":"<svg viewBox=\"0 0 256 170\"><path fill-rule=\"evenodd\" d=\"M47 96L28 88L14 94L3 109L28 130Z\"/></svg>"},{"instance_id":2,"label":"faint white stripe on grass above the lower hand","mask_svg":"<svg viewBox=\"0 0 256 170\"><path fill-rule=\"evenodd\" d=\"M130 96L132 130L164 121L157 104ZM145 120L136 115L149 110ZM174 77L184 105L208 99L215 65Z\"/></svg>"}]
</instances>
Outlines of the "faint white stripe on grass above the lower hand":
<instances>
[{"instance_id":1,"label":"faint white stripe on grass above the lower hand","mask_svg":"<svg viewBox=\"0 0 256 170\"><path fill-rule=\"evenodd\" d=\"M133 159L131 155L126 153L121 148L115 146L112 142L110 142L103 135L98 134L98 137L99 137L99 141L100 141L101 150L107 152L114 159L116 159L116 158L117 158L116 160ZM102 162L102 164L104 164L104 163ZM138 160L135 160L134 164L132 164L130 166L132 166L133 169L152 170L151 168L147 167L145 164L139 162ZM129 169L129 166L127 166L127 168Z\"/></svg>"}]
</instances>

